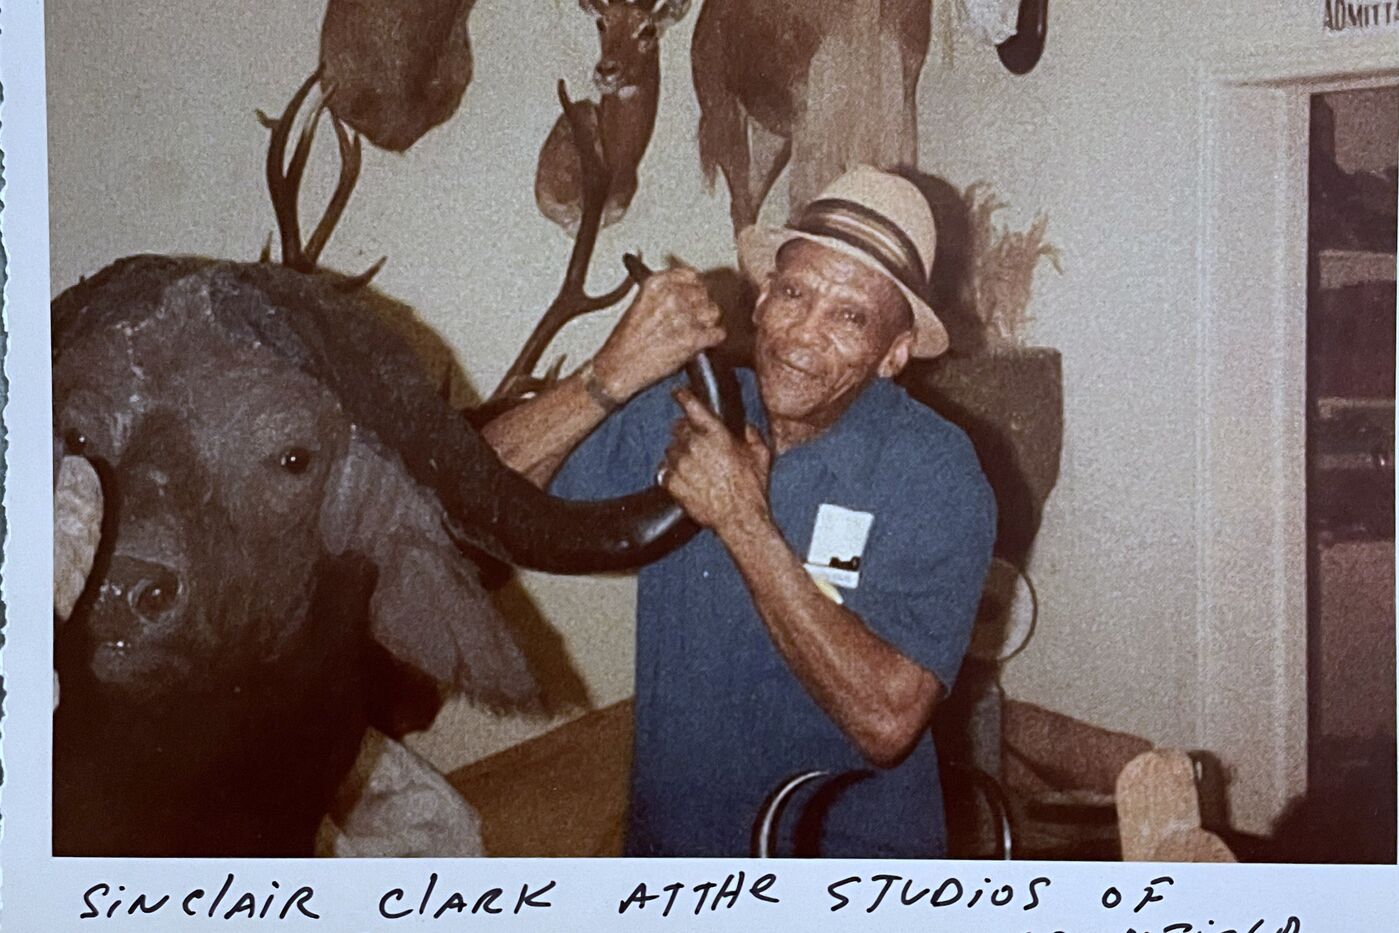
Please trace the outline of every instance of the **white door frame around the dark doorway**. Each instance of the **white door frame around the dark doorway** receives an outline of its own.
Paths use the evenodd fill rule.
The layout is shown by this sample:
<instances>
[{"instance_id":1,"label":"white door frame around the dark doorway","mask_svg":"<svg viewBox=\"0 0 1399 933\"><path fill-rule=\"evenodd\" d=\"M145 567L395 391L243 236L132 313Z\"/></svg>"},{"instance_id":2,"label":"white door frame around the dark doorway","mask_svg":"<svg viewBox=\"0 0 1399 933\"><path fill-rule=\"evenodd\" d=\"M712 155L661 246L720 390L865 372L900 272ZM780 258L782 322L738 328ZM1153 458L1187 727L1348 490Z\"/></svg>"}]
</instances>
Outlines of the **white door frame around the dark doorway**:
<instances>
[{"instance_id":1,"label":"white door frame around the dark doorway","mask_svg":"<svg viewBox=\"0 0 1399 933\"><path fill-rule=\"evenodd\" d=\"M1200 69L1198 743L1234 827L1307 789L1309 97L1399 80L1393 34Z\"/></svg>"}]
</instances>

